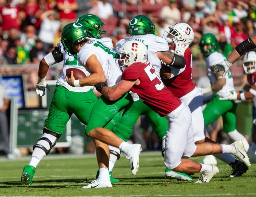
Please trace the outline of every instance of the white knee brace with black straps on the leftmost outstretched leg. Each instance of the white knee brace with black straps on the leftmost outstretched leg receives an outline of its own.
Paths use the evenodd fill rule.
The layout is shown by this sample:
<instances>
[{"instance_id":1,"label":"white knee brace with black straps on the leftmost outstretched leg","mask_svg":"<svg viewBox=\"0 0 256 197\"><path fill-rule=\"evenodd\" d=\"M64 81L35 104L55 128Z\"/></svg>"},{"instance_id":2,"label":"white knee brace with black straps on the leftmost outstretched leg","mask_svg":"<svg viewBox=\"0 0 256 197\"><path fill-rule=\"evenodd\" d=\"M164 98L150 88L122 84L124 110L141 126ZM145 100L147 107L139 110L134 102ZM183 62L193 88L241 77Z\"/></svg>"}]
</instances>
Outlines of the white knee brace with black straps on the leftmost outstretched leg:
<instances>
[{"instance_id":1,"label":"white knee brace with black straps on the leftmost outstretched leg","mask_svg":"<svg viewBox=\"0 0 256 197\"><path fill-rule=\"evenodd\" d=\"M49 135L51 135L52 136L52 141L53 142L51 142L51 140L48 138L48 135L47 134L49 134ZM55 133L55 132L53 132L53 131L49 131L48 129L46 129L46 128L44 128L44 130L43 130L43 135L41 136L41 138L37 141L37 143L36 143L36 145L34 145L33 146L33 150L35 149L35 148L41 148L44 152L45 152L45 154L47 155L47 154L49 154L49 152L51 151L51 149L56 145L56 143L58 142L58 139L60 138L60 134L57 134L57 133ZM50 148L46 148L43 144L44 143L42 143L42 142L40 142L40 141L46 141L48 144L49 144L49 146L50 146ZM41 144L42 143L42 144Z\"/></svg>"}]
</instances>

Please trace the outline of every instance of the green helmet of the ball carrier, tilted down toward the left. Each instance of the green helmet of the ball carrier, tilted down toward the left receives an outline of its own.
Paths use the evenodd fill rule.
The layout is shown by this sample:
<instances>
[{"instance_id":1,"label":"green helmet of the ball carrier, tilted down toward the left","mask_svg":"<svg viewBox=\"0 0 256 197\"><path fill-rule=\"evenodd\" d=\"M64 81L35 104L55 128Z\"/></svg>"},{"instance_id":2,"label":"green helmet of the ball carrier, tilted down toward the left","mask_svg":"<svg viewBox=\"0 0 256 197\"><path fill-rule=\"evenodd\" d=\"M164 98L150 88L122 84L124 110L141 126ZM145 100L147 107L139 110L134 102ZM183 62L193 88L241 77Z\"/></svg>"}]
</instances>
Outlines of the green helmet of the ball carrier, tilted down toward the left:
<instances>
[{"instance_id":1,"label":"green helmet of the ball carrier, tilted down toward the left","mask_svg":"<svg viewBox=\"0 0 256 197\"><path fill-rule=\"evenodd\" d=\"M73 52L74 43L82 42L85 39L88 39L86 29L80 23L69 23L61 32L61 43L69 55L75 54Z\"/></svg>"}]
</instances>

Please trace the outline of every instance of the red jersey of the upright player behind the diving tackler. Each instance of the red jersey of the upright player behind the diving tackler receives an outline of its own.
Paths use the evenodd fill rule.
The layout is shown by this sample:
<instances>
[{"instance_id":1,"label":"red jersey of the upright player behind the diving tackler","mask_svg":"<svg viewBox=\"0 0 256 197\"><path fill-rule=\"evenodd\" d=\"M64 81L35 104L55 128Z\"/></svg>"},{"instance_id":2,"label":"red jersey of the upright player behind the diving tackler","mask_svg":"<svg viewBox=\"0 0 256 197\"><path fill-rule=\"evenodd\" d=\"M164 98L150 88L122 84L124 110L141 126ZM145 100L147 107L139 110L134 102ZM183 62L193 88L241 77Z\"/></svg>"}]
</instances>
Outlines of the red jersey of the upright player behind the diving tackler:
<instances>
[{"instance_id":1,"label":"red jersey of the upright player behind the diving tackler","mask_svg":"<svg viewBox=\"0 0 256 197\"><path fill-rule=\"evenodd\" d=\"M171 79L165 79L161 76L166 87L178 98L191 92L196 87L192 82L192 53L189 48L186 49L184 57L186 59L186 67L182 73Z\"/></svg>"}]
</instances>

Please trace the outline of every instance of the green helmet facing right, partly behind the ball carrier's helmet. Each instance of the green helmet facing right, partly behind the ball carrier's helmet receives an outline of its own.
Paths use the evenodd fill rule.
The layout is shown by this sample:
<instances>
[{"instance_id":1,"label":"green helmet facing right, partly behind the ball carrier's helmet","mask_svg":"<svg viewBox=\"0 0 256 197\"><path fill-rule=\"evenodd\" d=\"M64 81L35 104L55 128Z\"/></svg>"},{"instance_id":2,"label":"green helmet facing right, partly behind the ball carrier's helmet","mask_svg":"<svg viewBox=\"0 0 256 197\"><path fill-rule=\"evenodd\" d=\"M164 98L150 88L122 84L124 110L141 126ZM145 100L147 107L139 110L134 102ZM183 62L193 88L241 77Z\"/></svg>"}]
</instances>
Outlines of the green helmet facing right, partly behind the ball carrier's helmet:
<instances>
[{"instance_id":1,"label":"green helmet facing right, partly behind the ball carrier's helmet","mask_svg":"<svg viewBox=\"0 0 256 197\"><path fill-rule=\"evenodd\" d=\"M107 37L107 31L103 29L104 23L94 14L83 15L76 22L85 27L87 35L90 38L102 38L102 34L105 34L104 37Z\"/></svg>"}]
</instances>

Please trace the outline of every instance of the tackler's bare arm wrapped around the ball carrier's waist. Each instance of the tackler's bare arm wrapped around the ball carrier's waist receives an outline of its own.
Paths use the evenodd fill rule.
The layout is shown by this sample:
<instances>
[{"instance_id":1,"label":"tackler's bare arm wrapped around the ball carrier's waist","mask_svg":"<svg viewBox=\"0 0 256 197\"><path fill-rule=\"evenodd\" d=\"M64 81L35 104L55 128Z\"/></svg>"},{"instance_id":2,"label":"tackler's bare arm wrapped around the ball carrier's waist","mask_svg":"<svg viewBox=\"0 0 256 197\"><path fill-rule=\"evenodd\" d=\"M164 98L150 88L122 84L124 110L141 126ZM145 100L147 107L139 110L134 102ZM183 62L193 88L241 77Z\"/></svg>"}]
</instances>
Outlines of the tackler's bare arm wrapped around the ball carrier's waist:
<instances>
[{"instance_id":1,"label":"tackler's bare arm wrapped around the ball carrier's waist","mask_svg":"<svg viewBox=\"0 0 256 197\"><path fill-rule=\"evenodd\" d=\"M122 95L128 92L133 85L138 85L139 79L136 80L121 80L113 87L104 86L101 90L101 94L110 101L119 99Z\"/></svg>"}]
</instances>

